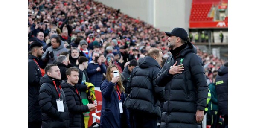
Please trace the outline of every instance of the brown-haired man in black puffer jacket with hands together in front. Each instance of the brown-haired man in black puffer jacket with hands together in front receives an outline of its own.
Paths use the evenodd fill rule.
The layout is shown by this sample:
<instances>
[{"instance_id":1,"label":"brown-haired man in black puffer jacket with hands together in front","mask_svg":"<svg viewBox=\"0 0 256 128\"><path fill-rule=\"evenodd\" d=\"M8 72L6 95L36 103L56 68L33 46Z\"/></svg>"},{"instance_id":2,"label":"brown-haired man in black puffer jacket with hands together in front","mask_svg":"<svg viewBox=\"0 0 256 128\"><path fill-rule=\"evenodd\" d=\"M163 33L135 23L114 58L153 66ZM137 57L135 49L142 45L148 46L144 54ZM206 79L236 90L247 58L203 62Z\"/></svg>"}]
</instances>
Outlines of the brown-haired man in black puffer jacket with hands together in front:
<instances>
[{"instance_id":1,"label":"brown-haired man in black puffer jacket with hands together in front","mask_svg":"<svg viewBox=\"0 0 256 128\"><path fill-rule=\"evenodd\" d=\"M96 107L93 104L82 104L81 93L76 87L79 70L75 67L70 67L65 74L67 75L67 81L61 81L61 88L64 90L67 107L70 112L70 128L84 128L83 113L93 111Z\"/></svg>"}]
</instances>

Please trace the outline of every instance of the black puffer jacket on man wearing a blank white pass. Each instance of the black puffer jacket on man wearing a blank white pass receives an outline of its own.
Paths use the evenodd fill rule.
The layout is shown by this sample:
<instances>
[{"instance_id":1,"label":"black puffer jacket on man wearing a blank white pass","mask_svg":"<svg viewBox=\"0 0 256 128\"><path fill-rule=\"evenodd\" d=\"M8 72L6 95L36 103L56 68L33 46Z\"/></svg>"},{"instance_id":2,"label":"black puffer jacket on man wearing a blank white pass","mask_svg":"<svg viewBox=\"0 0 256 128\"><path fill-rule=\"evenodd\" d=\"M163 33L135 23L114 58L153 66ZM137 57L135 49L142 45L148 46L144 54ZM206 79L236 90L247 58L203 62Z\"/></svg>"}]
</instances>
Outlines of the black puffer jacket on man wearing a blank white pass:
<instances>
[{"instance_id":1,"label":"black puffer jacket on man wearing a blank white pass","mask_svg":"<svg viewBox=\"0 0 256 128\"><path fill-rule=\"evenodd\" d=\"M55 81L58 92L53 84ZM67 108L64 91L60 90L60 81L47 74L40 80L39 105L42 111L42 128L68 128L69 111ZM56 99L63 99L64 112L59 112Z\"/></svg>"}]
</instances>

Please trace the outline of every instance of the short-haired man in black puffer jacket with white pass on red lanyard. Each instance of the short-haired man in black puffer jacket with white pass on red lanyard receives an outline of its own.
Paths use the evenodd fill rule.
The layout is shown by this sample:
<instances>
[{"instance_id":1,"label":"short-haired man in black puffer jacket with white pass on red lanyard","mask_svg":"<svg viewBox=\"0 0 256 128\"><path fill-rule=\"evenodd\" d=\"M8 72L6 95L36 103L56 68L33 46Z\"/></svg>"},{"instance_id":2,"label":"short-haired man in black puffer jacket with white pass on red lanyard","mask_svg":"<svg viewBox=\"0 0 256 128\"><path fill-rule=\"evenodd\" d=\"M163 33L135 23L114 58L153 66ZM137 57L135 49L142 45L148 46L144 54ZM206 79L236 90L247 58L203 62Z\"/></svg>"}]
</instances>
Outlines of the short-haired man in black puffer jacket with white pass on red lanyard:
<instances>
[{"instance_id":1,"label":"short-haired man in black puffer jacket with white pass on red lanyard","mask_svg":"<svg viewBox=\"0 0 256 128\"><path fill-rule=\"evenodd\" d=\"M48 64L44 70L45 74L40 80L41 87L39 90L42 128L68 128L69 111L65 93L60 86L60 69L57 64Z\"/></svg>"}]
</instances>

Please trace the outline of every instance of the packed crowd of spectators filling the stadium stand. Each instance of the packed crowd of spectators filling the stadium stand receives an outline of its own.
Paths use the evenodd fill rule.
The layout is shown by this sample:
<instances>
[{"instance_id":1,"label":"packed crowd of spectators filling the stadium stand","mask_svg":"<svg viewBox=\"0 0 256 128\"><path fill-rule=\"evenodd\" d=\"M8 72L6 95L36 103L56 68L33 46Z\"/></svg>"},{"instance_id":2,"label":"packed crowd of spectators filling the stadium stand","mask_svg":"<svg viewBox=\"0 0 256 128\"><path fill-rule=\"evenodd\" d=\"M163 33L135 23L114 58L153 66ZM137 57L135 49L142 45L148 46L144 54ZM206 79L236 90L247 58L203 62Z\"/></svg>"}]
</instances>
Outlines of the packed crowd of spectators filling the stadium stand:
<instances>
[{"instance_id":1,"label":"packed crowd of spectators filling the stadium stand","mask_svg":"<svg viewBox=\"0 0 256 128\"><path fill-rule=\"evenodd\" d=\"M52 38L58 41L56 37L60 39L57 48L51 42ZM167 38L165 32L151 24L93 0L29 0L29 54L32 42L43 44L44 55L38 61L42 69L47 64L56 63L59 55L67 56L67 68L79 67L79 57L84 56L89 61L87 75L95 87L99 87L106 73L99 73L102 77L98 77L88 70L102 71L108 65L115 64L120 71L124 71L129 61L139 61L147 56L151 47L161 49L163 58L167 58L171 54ZM224 60L197 50L204 62L207 79L214 83L214 77L224 65ZM97 56L105 67L90 64Z\"/></svg>"}]
</instances>

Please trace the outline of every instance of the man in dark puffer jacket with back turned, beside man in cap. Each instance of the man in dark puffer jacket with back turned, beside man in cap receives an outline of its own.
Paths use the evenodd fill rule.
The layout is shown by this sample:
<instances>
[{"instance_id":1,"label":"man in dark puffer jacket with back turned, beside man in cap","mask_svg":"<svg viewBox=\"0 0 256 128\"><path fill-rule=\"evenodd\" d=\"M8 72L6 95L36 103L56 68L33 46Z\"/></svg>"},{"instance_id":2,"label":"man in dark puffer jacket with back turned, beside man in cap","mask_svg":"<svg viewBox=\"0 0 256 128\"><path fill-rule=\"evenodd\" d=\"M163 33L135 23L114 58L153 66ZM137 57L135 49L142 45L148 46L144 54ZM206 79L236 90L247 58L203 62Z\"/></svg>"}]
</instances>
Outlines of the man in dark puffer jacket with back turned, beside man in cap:
<instances>
[{"instance_id":1,"label":"man in dark puffer jacket with back turned, beside man in cap","mask_svg":"<svg viewBox=\"0 0 256 128\"><path fill-rule=\"evenodd\" d=\"M158 48L151 48L148 56L139 61L127 84L130 93L124 106L130 110L135 128L157 128L160 117L160 102L164 100L164 88L158 87L155 79L160 71L163 53Z\"/></svg>"}]
</instances>

